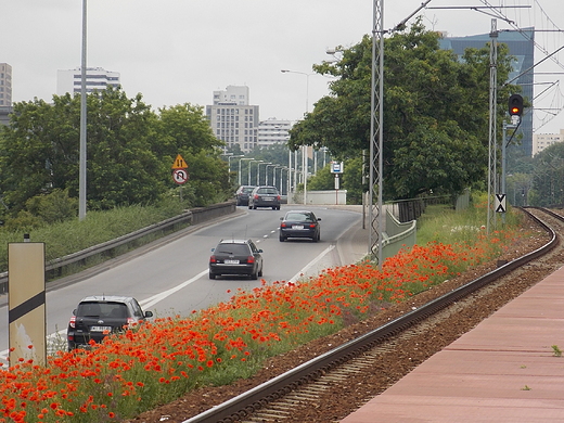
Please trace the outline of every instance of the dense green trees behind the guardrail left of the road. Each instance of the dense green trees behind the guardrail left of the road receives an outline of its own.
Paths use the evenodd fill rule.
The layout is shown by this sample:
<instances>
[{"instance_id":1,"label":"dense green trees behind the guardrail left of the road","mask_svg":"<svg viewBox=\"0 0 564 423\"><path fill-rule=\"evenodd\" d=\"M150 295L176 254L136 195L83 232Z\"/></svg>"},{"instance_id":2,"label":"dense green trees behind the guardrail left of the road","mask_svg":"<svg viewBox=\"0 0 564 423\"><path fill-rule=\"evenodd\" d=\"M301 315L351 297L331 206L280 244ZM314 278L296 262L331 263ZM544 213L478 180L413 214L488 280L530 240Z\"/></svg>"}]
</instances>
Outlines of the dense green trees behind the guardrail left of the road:
<instances>
[{"instance_id":1,"label":"dense green trees behind the guardrail left of the road","mask_svg":"<svg viewBox=\"0 0 564 423\"><path fill-rule=\"evenodd\" d=\"M141 94L129 99L119 88L95 91L87 103L88 208L158 201L177 188L170 174L178 154L189 164L191 206L227 197L222 142L202 107L183 104L157 114ZM12 215L38 204L29 202L36 196L78 197L79 131L79 95L14 104L10 125L0 128L0 189Z\"/></svg>"}]
</instances>

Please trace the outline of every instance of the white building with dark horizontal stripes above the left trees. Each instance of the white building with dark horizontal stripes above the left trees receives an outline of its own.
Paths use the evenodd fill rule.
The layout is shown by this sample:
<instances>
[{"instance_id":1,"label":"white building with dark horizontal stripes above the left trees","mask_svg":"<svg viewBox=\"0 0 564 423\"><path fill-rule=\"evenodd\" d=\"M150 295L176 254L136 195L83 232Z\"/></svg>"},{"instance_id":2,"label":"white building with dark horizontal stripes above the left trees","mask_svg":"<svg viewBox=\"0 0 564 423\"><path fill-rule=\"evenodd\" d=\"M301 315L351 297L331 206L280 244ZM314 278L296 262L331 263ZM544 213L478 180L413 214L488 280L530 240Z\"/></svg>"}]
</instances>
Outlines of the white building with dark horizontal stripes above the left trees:
<instances>
[{"instance_id":1,"label":"white building with dark horizontal stripes above the left trees","mask_svg":"<svg viewBox=\"0 0 564 423\"><path fill-rule=\"evenodd\" d=\"M64 95L67 92L75 94L80 92L81 70L80 67L69 70L57 70L56 73L56 94ZM87 67L86 69L86 91L103 91L107 87L118 87L119 73L105 70L102 67Z\"/></svg>"}]
</instances>

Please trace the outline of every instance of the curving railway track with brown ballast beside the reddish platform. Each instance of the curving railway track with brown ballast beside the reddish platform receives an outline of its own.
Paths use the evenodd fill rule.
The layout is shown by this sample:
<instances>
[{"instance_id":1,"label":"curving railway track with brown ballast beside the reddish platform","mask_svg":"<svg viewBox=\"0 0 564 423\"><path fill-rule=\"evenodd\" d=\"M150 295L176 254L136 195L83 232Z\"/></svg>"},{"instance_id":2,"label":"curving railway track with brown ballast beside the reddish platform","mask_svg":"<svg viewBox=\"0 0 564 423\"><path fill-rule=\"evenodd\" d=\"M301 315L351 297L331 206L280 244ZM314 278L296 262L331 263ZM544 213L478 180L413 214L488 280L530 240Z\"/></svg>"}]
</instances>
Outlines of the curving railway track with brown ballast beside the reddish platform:
<instances>
[{"instance_id":1,"label":"curving railway track with brown ballast beside the reddish platform","mask_svg":"<svg viewBox=\"0 0 564 423\"><path fill-rule=\"evenodd\" d=\"M562 266L564 218L525 213L549 234L533 252L183 423L338 422Z\"/></svg>"}]
</instances>

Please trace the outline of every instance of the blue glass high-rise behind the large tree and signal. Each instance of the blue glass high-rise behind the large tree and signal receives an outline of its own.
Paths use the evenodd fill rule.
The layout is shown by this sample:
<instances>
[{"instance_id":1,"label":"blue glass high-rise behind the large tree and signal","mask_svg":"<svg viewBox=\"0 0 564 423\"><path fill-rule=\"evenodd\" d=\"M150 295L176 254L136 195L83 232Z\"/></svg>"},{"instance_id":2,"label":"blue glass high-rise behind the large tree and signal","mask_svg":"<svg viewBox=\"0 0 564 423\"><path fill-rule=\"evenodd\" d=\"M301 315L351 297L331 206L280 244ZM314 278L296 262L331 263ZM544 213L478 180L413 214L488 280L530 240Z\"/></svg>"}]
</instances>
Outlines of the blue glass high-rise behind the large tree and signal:
<instances>
[{"instance_id":1,"label":"blue glass high-rise behind the large tree and signal","mask_svg":"<svg viewBox=\"0 0 564 423\"><path fill-rule=\"evenodd\" d=\"M489 34L475 35L470 37L444 37L440 40L440 48L452 50L459 57L464 54L467 48L482 49L491 41ZM504 43L509 48L509 54L515 56L513 72L509 75L512 80L517 75L518 78L512 84L521 86L521 94L528 102L529 107L525 107L518 134L523 136L521 148L527 155L533 155L533 106L534 106L534 76L533 65L535 64L535 28L524 28L521 31L504 30L498 33L498 43ZM498 81L502 84L503 81ZM509 99L508 99L509 100ZM505 105L507 102L501 102Z\"/></svg>"}]
</instances>

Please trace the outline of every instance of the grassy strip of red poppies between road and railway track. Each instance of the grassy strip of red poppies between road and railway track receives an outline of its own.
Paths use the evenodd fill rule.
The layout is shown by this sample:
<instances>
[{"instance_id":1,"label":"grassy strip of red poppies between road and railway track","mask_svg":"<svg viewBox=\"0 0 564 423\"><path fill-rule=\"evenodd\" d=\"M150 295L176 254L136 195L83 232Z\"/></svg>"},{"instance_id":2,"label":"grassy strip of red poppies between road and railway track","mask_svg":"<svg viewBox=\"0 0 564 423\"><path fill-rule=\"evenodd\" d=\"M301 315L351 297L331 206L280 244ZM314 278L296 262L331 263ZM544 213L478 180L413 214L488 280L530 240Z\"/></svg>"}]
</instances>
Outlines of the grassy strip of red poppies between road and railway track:
<instances>
[{"instance_id":1,"label":"grassy strip of red poppies between road and railway track","mask_svg":"<svg viewBox=\"0 0 564 423\"><path fill-rule=\"evenodd\" d=\"M295 284L264 283L192 316L154 319L48 368L0 372L0 422L106 422L132 416L200 386L248 377L266 358L379 312L490 260L518 236L520 217L487 235L486 213L428 207L419 245L386 260L328 269ZM424 244L423 244L424 243Z\"/></svg>"}]
</instances>

